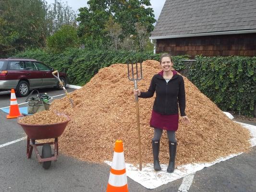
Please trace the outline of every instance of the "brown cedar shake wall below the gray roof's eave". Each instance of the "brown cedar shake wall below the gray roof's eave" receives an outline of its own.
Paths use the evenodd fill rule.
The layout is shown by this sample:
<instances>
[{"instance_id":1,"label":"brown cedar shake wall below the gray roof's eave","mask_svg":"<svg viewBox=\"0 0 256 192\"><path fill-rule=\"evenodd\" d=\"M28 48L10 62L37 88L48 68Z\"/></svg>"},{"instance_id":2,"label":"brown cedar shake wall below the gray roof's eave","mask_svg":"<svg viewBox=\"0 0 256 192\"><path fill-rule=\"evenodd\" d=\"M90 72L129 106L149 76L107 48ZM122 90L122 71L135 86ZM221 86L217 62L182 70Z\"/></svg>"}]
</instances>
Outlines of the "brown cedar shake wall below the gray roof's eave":
<instances>
[{"instance_id":1,"label":"brown cedar shake wall below the gray roof's eave","mask_svg":"<svg viewBox=\"0 0 256 192\"><path fill-rule=\"evenodd\" d=\"M157 39L157 53L204 56L256 56L256 33Z\"/></svg>"}]
</instances>

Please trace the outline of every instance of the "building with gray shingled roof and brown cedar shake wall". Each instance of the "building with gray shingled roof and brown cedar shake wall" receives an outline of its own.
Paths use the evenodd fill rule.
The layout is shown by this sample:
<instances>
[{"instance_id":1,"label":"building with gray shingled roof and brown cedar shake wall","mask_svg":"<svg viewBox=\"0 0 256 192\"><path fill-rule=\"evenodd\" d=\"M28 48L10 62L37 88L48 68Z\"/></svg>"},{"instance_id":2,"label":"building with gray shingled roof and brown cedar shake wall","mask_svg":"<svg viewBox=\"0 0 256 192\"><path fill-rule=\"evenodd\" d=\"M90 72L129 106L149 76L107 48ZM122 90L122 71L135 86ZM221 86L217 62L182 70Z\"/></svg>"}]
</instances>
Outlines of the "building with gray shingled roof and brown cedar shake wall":
<instances>
[{"instance_id":1,"label":"building with gray shingled roof and brown cedar shake wall","mask_svg":"<svg viewBox=\"0 0 256 192\"><path fill-rule=\"evenodd\" d=\"M157 53L255 56L256 0L166 0L149 38Z\"/></svg>"}]
</instances>

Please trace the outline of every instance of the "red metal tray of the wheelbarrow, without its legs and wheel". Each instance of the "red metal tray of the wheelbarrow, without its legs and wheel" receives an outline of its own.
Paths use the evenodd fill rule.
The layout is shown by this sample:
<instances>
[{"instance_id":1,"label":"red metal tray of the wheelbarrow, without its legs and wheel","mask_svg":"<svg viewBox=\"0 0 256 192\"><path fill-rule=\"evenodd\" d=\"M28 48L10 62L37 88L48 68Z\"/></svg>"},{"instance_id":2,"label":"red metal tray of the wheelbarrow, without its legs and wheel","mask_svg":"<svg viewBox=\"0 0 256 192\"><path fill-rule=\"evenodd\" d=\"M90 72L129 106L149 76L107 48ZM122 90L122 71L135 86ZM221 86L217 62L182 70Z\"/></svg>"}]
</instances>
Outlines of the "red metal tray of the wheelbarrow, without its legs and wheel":
<instances>
[{"instance_id":1,"label":"red metal tray of the wheelbarrow, without its legs and wheel","mask_svg":"<svg viewBox=\"0 0 256 192\"><path fill-rule=\"evenodd\" d=\"M69 117L65 114L59 113L58 115L63 115L67 118L66 121L60 123L52 123L52 124L24 124L18 122L21 125L24 132L30 139L51 139L58 138L64 132L68 122L70 121Z\"/></svg>"}]
</instances>

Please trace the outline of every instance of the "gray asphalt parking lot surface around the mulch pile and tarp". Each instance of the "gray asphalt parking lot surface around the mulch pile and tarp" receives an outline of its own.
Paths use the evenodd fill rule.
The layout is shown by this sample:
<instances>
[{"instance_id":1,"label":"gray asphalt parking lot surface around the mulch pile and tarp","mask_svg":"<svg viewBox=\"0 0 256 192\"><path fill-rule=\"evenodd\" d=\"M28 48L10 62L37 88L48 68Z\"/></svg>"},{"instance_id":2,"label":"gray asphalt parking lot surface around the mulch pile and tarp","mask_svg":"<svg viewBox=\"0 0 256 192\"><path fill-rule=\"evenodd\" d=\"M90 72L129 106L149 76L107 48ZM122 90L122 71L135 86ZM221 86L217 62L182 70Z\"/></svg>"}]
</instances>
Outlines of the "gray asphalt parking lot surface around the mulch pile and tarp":
<instances>
[{"instance_id":1,"label":"gray asphalt parking lot surface around the mulch pile and tarp","mask_svg":"<svg viewBox=\"0 0 256 192\"><path fill-rule=\"evenodd\" d=\"M68 88L68 92L74 89ZM62 90L41 89L59 99ZM61 95L61 96L58 96ZM25 97L17 98L18 104ZM10 105L10 93L0 93L0 108ZM20 107L25 107L26 104ZM0 146L23 138L16 119L6 119L0 110ZM61 144L60 144L61 148ZM75 150L75 149L74 149ZM112 153L112 152L111 152ZM124 152L125 153L125 152ZM250 153L233 157L195 173L188 192L256 192L256 147ZM26 140L0 147L0 192L105 192L110 167L79 161L60 154L48 170L37 162L34 152L26 158ZM178 192L183 179L148 190L128 178L129 192ZM183 190L183 192L186 192Z\"/></svg>"}]
</instances>

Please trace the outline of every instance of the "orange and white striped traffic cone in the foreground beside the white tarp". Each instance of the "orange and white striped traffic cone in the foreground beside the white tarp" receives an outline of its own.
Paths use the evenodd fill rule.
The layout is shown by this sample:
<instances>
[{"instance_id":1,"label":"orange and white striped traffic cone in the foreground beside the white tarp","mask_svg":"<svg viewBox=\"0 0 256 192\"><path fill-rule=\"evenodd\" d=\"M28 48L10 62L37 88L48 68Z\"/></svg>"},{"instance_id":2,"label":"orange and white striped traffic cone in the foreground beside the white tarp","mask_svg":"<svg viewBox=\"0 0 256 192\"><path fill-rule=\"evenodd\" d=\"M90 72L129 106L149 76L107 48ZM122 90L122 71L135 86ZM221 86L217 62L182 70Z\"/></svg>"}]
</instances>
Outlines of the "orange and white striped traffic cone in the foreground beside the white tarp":
<instances>
[{"instance_id":1,"label":"orange and white striped traffic cone in the foreground beside the white tarp","mask_svg":"<svg viewBox=\"0 0 256 192\"><path fill-rule=\"evenodd\" d=\"M107 192L128 192L122 140L116 140Z\"/></svg>"}]
</instances>

